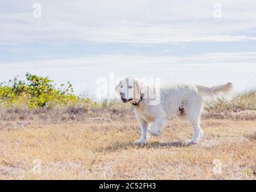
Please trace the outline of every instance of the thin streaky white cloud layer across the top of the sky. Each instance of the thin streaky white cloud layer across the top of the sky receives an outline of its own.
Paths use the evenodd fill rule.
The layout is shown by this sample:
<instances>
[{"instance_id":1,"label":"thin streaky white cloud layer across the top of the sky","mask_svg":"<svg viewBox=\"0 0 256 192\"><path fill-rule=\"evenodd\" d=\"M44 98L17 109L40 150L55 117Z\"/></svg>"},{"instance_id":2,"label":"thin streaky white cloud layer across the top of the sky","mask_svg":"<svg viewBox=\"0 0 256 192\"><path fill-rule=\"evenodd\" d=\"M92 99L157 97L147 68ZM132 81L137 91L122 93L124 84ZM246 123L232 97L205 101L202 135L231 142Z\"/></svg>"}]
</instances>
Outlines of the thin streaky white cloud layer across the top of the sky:
<instances>
[{"instance_id":1,"label":"thin streaky white cloud layer across the top of the sky","mask_svg":"<svg viewBox=\"0 0 256 192\"><path fill-rule=\"evenodd\" d=\"M255 40L255 1L42 1L42 17L32 17L34 1L10 1L0 14L0 41L86 40L120 43L178 43ZM11 11L8 11L11 10Z\"/></svg>"}]
</instances>

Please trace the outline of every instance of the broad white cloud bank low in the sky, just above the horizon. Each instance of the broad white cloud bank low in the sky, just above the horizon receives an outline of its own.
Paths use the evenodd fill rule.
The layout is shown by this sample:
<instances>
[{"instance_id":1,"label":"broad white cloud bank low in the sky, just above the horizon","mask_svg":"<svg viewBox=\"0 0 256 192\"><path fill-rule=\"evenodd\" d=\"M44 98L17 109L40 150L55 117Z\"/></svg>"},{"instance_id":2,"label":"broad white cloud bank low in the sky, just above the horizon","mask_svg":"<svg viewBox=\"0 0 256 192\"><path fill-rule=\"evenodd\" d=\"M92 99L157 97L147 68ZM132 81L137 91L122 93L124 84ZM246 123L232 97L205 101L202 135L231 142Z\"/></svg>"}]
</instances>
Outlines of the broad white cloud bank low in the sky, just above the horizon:
<instances>
[{"instance_id":1,"label":"broad white cloud bank low in the sky, just above the horizon","mask_svg":"<svg viewBox=\"0 0 256 192\"><path fill-rule=\"evenodd\" d=\"M160 77L162 82L203 83L210 86L233 82L236 91L255 86L256 52L206 53L197 56L99 55L86 58L47 59L0 64L0 82L26 72L49 76L56 83L73 83L76 93L90 90L109 73L119 76ZM253 82L248 84L249 82Z\"/></svg>"}]
</instances>

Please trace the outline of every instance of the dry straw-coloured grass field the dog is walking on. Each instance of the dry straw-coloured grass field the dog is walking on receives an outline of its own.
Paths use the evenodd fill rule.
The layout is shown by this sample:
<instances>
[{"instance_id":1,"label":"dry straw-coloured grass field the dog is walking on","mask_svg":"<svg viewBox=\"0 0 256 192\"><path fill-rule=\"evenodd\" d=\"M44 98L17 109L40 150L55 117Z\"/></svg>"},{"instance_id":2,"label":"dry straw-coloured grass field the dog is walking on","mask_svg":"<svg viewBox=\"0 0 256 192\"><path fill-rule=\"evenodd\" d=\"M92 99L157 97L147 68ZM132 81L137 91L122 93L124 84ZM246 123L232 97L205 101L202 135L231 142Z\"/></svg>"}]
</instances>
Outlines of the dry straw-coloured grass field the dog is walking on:
<instances>
[{"instance_id":1,"label":"dry straw-coloured grass field the dog is walking on","mask_svg":"<svg viewBox=\"0 0 256 192\"><path fill-rule=\"evenodd\" d=\"M170 119L135 146L139 125L126 110L2 110L0 179L256 179L256 114L244 113L204 114L197 145L186 145L189 124Z\"/></svg>"}]
</instances>

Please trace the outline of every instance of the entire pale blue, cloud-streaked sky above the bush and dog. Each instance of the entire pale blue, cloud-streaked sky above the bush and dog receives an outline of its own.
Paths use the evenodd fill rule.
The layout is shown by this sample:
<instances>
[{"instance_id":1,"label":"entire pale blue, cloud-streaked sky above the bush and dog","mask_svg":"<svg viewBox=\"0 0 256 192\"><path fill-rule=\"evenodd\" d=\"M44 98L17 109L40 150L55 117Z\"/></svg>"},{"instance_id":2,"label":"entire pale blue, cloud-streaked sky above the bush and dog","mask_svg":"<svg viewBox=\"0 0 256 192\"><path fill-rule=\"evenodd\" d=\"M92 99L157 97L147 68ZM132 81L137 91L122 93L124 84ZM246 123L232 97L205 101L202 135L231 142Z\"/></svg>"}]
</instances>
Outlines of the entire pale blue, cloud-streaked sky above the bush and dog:
<instances>
[{"instance_id":1,"label":"entire pale blue, cloud-streaked sky above the bush and dog","mask_svg":"<svg viewBox=\"0 0 256 192\"><path fill-rule=\"evenodd\" d=\"M114 74L233 82L244 91L256 85L255 7L253 0L1 0L0 82L30 72L94 96L97 79Z\"/></svg>"}]
</instances>

